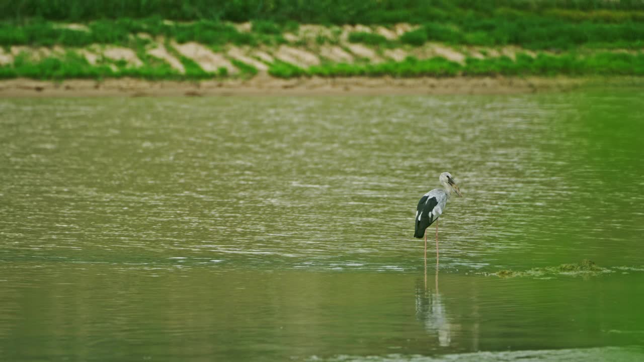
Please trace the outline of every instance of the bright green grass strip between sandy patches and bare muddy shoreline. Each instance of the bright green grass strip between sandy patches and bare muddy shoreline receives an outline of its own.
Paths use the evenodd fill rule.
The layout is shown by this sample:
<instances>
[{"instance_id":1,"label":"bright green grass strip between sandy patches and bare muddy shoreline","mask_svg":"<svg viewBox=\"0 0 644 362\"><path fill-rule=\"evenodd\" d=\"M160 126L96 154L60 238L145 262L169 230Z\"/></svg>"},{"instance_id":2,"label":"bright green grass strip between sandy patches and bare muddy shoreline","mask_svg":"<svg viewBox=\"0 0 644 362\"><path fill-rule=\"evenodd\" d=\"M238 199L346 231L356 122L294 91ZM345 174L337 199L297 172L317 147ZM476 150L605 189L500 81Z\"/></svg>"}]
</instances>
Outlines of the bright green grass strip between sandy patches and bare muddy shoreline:
<instances>
[{"instance_id":1,"label":"bright green grass strip between sandy patches and bare muddy shoreline","mask_svg":"<svg viewBox=\"0 0 644 362\"><path fill-rule=\"evenodd\" d=\"M91 65L83 57L68 52L62 58L48 57L33 62L26 57L16 59L12 67L0 67L0 78L27 77L33 79L104 79L118 77L138 77L143 79L213 79L228 76L225 68L217 72L202 70L189 59L182 59L186 72L179 73L162 62L146 64L137 68L121 62L118 66ZM245 76L252 77L258 70L249 64L236 61ZM516 59L506 56L486 59L468 58L464 64L448 61L442 57L404 61L386 61L375 64L324 63L308 68L288 62L276 61L271 64L269 74L273 77L289 79L294 77L457 77L457 76L586 76L586 75L636 75L644 76L644 55L629 53L596 53L589 56L574 54L547 55L531 57L516 55Z\"/></svg>"}]
</instances>

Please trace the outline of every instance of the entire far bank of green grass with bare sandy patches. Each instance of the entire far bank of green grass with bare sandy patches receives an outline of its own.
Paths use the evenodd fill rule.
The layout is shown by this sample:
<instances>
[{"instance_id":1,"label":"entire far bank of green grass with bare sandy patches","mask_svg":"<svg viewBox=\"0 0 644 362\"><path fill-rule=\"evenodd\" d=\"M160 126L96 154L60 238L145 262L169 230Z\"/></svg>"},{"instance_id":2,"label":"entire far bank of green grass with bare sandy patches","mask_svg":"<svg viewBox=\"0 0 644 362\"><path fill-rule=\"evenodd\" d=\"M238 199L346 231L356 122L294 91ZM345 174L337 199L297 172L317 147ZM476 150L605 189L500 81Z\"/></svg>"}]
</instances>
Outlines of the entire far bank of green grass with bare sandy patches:
<instances>
[{"instance_id":1,"label":"entire far bank of green grass with bare sandy patches","mask_svg":"<svg viewBox=\"0 0 644 362\"><path fill-rule=\"evenodd\" d=\"M0 0L0 19L5 79L643 75L644 69L642 0Z\"/></svg>"}]
</instances>

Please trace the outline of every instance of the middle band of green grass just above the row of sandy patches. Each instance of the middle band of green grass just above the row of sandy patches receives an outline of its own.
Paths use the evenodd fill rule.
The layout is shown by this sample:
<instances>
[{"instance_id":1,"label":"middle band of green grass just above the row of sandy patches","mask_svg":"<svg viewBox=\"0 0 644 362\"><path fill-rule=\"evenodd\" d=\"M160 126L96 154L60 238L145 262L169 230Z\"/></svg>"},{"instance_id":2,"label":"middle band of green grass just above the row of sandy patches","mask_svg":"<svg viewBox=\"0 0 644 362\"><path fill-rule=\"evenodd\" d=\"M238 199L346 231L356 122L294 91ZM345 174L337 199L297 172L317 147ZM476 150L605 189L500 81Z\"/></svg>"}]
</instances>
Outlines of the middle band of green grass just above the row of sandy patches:
<instances>
[{"instance_id":1,"label":"middle band of green grass just above the row of sandy patches","mask_svg":"<svg viewBox=\"0 0 644 362\"><path fill-rule=\"evenodd\" d=\"M64 28L51 21L30 19L21 23L0 23L0 45L86 46L128 44L139 32L163 35L179 43L196 41L216 44L284 44L282 33L297 29L297 24L254 21L252 32L240 32L229 23L200 20L173 23L160 18L98 20L87 23L88 31ZM531 50L571 50L577 46L595 48L643 48L644 17L641 22L571 23L549 17L515 19L471 19L460 23L424 23L416 30L389 40L382 35L352 32L348 40L371 46L395 47L400 44L421 46L428 41L475 46L513 44Z\"/></svg>"}]
</instances>

